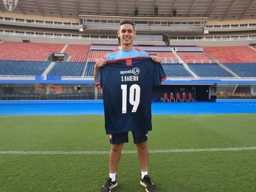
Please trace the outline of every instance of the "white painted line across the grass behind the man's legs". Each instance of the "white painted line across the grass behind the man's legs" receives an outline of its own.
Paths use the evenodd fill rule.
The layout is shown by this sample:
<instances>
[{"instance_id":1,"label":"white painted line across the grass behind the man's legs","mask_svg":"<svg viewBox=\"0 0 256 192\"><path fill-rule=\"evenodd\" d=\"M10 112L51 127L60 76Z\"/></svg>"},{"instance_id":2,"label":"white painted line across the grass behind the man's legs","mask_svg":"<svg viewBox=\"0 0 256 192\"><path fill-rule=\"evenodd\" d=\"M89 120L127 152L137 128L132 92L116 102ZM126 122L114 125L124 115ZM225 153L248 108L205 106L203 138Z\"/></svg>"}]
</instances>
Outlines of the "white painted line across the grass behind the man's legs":
<instances>
[{"instance_id":1,"label":"white painted line across the grass behind the man's legs","mask_svg":"<svg viewBox=\"0 0 256 192\"><path fill-rule=\"evenodd\" d=\"M175 153L175 152L203 152L203 151L242 151L256 150L256 147L231 147L231 148L190 148L149 150L149 153ZM137 151L122 151L122 154L133 154ZM0 154L109 154L109 151L0 151Z\"/></svg>"}]
</instances>

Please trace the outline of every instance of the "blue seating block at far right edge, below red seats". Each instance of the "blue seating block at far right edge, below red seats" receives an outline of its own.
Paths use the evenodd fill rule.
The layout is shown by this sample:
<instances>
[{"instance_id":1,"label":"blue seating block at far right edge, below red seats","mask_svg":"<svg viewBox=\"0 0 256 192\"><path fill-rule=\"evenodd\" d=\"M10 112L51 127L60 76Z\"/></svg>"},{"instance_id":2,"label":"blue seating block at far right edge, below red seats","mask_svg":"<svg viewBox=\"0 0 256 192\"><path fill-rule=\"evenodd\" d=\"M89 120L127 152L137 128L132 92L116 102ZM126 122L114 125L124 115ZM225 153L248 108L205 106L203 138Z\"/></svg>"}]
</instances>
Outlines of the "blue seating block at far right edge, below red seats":
<instances>
[{"instance_id":1,"label":"blue seating block at far right edge, below red seats","mask_svg":"<svg viewBox=\"0 0 256 192\"><path fill-rule=\"evenodd\" d=\"M240 77L256 77L256 63L224 63L223 65Z\"/></svg>"}]
</instances>

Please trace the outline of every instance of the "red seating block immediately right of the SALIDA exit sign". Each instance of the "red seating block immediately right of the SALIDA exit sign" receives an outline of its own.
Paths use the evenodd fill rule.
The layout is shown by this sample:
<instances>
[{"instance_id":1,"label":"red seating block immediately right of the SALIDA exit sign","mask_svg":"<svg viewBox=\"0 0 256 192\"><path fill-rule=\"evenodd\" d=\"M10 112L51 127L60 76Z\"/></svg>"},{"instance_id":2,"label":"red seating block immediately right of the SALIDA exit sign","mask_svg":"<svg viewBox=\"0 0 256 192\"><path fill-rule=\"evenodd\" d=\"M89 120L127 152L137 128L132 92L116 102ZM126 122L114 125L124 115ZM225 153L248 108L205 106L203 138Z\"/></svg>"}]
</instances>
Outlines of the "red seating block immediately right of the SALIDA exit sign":
<instances>
[{"instance_id":1,"label":"red seating block immediately right of the SALIDA exit sign","mask_svg":"<svg viewBox=\"0 0 256 192\"><path fill-rule=\"evenodd\" d=\"M70 44L64 50L69 56L71 56L69 61L86 61L90 50L90 45L73 45Z\"/></svg>"}]
</instances>

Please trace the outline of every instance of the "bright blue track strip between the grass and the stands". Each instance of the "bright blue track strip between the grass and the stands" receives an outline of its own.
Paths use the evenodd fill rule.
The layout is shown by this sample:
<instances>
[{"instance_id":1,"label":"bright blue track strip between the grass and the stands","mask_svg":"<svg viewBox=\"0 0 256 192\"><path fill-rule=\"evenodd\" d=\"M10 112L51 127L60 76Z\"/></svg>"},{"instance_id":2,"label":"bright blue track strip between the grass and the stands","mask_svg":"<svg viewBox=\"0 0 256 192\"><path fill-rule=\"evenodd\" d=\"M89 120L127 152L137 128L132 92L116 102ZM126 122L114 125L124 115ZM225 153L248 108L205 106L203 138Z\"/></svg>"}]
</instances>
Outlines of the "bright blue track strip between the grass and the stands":
<instances>
[{"instance_id":1,"label":"bright blue track strip between the grass and the stands","mask_svg":"<svg viewBox=\"0 0 256 192\"><path fill-rule=\"evenodd\" d=\"M152 114L256 113L256 102L153 102ZM0 104L0 115L104 115L103 103Z\"/></svg>"}]
</instances>

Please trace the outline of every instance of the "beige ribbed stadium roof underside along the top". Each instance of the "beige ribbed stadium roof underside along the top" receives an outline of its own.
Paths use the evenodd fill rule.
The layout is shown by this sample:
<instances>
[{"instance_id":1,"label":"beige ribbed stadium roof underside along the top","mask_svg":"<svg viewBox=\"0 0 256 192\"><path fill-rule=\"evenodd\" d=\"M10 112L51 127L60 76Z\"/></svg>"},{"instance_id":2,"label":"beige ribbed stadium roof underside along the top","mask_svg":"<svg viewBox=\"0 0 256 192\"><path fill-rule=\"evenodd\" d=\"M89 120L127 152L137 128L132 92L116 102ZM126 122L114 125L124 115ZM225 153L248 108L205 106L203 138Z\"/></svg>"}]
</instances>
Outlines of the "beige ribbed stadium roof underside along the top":
<instances>
[{"instance_id":1,"label":"beige ribbed stadium roof underside along the top","mask_svg":"<svg viewBox=\"0 0 256 192\"><path fill-rule=\"evenodd\" d=\"M17 1L17 0L16 0ZM154 16L154 7L158 16ZM256 0L18 0L13 13L53 17L114 15L172 17L209 17L209 20L256 19ZM9 13L0 0L0 11Z\"/></svg>"}]
</instances>

